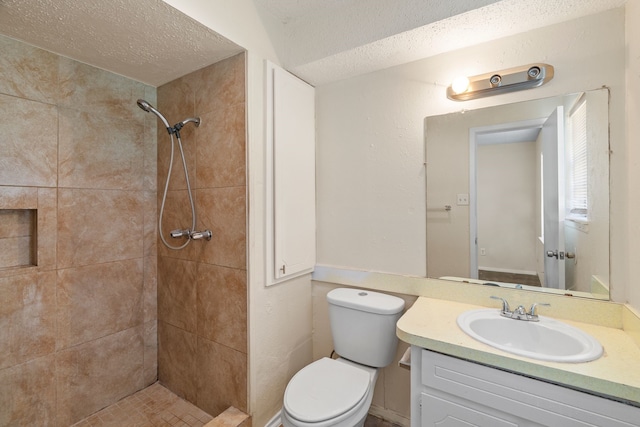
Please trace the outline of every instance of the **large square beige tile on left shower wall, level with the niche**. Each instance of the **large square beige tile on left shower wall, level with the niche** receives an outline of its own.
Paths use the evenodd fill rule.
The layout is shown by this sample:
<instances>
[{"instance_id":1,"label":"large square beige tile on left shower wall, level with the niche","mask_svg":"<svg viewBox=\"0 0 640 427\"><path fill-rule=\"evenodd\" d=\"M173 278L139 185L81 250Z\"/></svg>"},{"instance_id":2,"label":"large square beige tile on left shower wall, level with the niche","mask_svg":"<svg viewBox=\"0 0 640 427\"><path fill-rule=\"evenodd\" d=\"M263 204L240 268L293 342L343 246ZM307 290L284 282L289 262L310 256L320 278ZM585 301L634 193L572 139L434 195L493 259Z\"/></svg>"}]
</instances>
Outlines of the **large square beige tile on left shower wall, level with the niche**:
<instances>
[{"instance_id":1,"label":"large square beige tile on left shower wall, level with the niche","mask_svg":"<svg viewBox=\"0 0 640 427\"><path fill-rule=\"evenodd\" d=\"M138 192L58 191L58 268L142 257Z\"/></svg>"}]
</instances>

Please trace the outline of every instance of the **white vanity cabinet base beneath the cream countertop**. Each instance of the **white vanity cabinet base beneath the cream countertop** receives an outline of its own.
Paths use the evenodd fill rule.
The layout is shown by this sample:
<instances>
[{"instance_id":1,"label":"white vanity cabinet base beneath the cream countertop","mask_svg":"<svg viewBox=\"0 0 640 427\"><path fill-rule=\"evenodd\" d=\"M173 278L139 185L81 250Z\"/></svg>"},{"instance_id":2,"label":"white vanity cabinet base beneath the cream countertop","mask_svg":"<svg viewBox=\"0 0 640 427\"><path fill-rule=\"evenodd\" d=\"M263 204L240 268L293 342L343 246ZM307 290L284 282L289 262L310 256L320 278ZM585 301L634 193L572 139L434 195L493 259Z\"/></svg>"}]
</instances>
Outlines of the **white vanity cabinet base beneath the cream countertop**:
<instances>
[{"instance_id":1,"label":"white vanity cabinet base beneath the cream countertop","mask_svg":"<svg viewBox=\"0 0 640 427\"><path fill-rule=\"evenodd\" d=\"M411 347L411 427L640 426L640 408Z\"/></svg>"}]
</instances>

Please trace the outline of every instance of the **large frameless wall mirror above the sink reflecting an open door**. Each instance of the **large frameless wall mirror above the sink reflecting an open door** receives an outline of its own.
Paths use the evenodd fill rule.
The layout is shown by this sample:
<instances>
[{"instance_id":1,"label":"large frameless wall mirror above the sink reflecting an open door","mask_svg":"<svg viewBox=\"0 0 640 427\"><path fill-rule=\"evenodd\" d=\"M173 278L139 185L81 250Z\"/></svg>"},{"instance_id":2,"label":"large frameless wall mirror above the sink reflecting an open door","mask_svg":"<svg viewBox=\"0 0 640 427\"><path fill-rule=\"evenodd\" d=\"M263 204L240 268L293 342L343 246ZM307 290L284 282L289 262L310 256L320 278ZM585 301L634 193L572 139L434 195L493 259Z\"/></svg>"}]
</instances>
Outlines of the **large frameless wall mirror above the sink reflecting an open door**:
<instances>
[{"instance_id":1,"label":"large frameless wall mirror above the sink reflecting an open door","mask_svg":"<svg viewBox=\"0 0 640 427\"><path fill-rule=\"evenodd\" d=\"M609 92L425 119L427 273L609 298Z\"/></svg>"}]
</instances>

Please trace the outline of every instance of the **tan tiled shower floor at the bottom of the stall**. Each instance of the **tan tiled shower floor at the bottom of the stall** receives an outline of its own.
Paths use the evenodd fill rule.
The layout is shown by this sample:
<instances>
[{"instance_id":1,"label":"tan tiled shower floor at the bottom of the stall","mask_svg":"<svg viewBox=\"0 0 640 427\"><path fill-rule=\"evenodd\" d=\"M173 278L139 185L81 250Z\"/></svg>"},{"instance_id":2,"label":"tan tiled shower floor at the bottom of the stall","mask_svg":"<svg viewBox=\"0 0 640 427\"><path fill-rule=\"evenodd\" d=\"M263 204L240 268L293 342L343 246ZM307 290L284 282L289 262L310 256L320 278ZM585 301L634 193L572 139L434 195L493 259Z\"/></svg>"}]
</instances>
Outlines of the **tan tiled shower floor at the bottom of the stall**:
<instances>
[{"instance_id":1,"label":"tan tiled shower floor at the bottom of the stall","mask_svg":"<svg viewBox=\"0 0 640 427\"><path fill-rule=\"evenodd\" d=\"M202 427L213 417L155 383L73 427Z\"/></svg>"}]
</instances>

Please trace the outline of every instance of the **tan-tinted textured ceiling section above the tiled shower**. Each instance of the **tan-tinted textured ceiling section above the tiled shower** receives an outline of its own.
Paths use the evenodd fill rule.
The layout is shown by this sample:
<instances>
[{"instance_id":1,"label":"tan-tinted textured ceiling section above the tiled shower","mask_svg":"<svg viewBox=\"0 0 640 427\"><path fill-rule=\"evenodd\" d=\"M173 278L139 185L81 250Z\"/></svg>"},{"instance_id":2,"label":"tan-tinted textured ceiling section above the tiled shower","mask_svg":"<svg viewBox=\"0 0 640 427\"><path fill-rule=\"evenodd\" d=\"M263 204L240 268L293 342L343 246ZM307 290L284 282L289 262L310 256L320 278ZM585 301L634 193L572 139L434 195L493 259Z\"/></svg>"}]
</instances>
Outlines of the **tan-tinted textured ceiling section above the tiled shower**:
<instances>
[{"instance_id":1,"label":"tan-tinted textured ceiling section above the tiled shower","mask_svg":"<svg viewBox=\"0 0 640 427\"><path fill-rule=\"evenodd\" d=\"M152 86L242 51L161 0L0 0L0 33Z\"/></svg>"}]
</instances>

